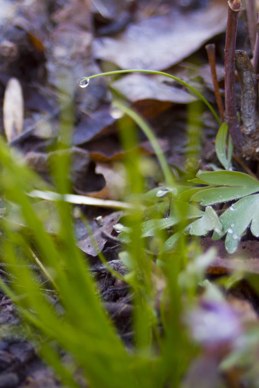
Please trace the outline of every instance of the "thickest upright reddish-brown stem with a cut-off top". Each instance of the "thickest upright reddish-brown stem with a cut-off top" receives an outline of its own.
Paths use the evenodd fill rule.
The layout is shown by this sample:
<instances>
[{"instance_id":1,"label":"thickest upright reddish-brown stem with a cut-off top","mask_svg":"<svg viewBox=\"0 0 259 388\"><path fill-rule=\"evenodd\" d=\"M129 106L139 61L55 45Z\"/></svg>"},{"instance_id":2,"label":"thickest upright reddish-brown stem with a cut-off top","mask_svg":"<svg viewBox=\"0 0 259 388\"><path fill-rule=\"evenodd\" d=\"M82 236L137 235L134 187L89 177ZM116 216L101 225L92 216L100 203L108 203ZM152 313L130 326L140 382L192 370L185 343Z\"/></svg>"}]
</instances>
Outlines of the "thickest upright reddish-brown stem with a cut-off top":
<instances>
[{"instance_id":1,"label":"thickest upright reddish-brown stem with a cut-off top","mask_svg":"<svg viewBox=\"0 0 259 388\"><path fill-rule=\"evenodd\" d=\"M225 118L229 124L229 133L235 149L240 154L243 136L239 128L236 110L235 46L237 21L242 4L240 0L229 0L228 5L229 10L225 45Z\"/></svg>"}]
</instances>

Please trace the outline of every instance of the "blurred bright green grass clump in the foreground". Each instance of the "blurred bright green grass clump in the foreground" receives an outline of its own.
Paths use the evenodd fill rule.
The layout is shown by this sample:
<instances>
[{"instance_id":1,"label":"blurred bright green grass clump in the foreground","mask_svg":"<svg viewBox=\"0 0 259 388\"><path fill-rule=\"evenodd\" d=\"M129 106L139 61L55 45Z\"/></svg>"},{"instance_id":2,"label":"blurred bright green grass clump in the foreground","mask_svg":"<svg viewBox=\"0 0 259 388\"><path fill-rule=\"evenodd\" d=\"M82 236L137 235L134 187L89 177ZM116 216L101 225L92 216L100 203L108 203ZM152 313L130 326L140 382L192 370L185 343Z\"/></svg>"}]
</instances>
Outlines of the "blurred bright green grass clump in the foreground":
<instances>
[{"instance_id":1,"label":"blurred bright green grass clump in the foreground","mask_svg":"<svg viewBox=\"0 0 259 388\"><path fill-rule=\"evenodd\" d=\"M197 281L181 285L186 264L199 253L196 245L189 248L181 231L178 248L165 252L168 238L157 228L153 237L142 238L141 223L157 216L155 194L145 196L145 176L141 156L136 151L137 127L141 127L155 149L161 166L161 182L173 185L173 175L149 126L134 111L118 102L126 113L120 121L120 137L126 153L128 185L126 199L134 206L124 218L129 229L128 242L120 257L128 267L123 277L133 294L132 343L124 344L96 294L89 264L76 247L73 227L73 205L62 201L71 192L69 147L73 128L73 109L61 115L61 132L53 159L54 191L60 200L52 203L58 219L56 235L44 229L44 217L36 211L36 200L29 195L33 189L48 190L49 186L31 171L20 155L0 139L0 187L2 198L18 212L20 225L9 217L0 219L1 261L11 264L8 282L0 287L19 308L23 322L30 327L30 336L37 343L42 357L56 370L63 384L79 387L75 369L83 370L91 388L158 388L178 387L197 346L190 340L183 324L183 305L193 303ZM53 188L52 188L53 190ZM167 199L161 201L159 212L166 211ZM174 205L173 205L174 206ZM184 217L184 209L175 208ZM54 217L54 212L53 212ZM176 230L177 231L177 230ZM29 264L39 264L39 281ZM14 275L13 276L11 276ZM199 274L199 280L202 279ZM48 293L56 295L62 309L55 309ZM62 361L68 352L74 367Z\"/></svg>"}]
</instances>

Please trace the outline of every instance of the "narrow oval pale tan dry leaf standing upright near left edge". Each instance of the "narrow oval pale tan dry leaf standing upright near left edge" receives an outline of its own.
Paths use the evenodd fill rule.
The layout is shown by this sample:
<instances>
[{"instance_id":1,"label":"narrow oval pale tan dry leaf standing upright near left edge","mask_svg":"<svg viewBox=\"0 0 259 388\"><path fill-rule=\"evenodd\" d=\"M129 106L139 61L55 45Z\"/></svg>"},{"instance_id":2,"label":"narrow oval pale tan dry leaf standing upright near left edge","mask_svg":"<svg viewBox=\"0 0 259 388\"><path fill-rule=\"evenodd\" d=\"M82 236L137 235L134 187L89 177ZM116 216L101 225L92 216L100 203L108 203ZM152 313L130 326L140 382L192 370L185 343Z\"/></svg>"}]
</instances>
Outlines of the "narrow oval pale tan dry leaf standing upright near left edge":
<instances>
[{"instance_id":1,"label":"narrow oval pale tan dry leaf standing upright near left edge","mask_svg":"<svg viewBox=\"0 0 259 388\"><path fill-rule=\"evenodd\" d=\"M7 82L3 99L3 125L6 139L11 141L21 134L24 119L22 86L17 78Z\"/></svg>"}]
</instances>

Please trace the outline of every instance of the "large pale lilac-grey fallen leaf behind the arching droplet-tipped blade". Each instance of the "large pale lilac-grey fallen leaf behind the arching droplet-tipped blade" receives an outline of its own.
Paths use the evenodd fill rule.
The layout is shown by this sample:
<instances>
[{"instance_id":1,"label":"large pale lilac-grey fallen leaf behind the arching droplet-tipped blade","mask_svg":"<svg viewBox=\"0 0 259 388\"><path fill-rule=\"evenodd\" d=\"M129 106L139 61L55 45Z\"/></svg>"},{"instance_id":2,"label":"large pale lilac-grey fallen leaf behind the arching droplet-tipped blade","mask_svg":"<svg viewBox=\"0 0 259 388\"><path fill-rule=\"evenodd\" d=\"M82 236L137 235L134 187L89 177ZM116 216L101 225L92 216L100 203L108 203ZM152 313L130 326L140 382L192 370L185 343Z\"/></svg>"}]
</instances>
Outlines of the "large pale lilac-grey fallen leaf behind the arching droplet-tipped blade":
<instances>
[{"instance_id":1,"label":"large pale lilac-grey fallen leaf behind the arching droplet-tipped blade","mask_svg":"<svg viewBox=\"0 0 259 388\"><path fill-rule=\"evenodd\" d=\"M226 22L226 1L212 1L189 13L171 10L129 25L117 38L94 39L93 55L122 69L162 70L224 31Z\"/></svg>"}]
</instances>

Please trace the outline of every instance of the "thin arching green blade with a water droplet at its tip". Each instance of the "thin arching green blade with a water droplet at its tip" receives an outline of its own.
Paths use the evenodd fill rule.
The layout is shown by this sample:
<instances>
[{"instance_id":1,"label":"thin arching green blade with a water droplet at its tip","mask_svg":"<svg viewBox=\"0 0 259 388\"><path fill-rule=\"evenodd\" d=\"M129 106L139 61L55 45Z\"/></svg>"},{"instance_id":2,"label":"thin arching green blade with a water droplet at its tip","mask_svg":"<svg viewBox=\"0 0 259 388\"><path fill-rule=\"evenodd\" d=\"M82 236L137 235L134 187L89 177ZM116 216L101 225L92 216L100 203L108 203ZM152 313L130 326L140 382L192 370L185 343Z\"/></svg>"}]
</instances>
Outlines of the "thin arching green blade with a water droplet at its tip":
<instances>
[{"instance_id":1,"label":"thin arching green blade with a water droplet at its tip","mask_svg":"<svg viewBox=\"0 0 259 388\"><path fill-rule=\"evenodd\" d=\"M86 85L83 86L84 83L89 81L91 78L102 77L102 76L113 76L113 75L124 74L124 73L147 73L147 74L155 74L155 75L165 76L165 77L174 79L175 81L181 83L182 85L186 86L186 88L190 89L193 93L195 93L204 102L204 104L207 105L207 107L210 109L210 111L212 112L212 114L215 117L215 119L218 122L218 124L221 124L221 120L218 117L217 113L215 112L215 109L213 109L213 107L211 106L209 101L207 101L206 98L203 97L203 95L198 92L198 90L193 88L187 82L184 82L182 79L174 77L171 74L164 73L163 71L143 70L143 69L129 69L129 70L108 71L106 73L99 73L99 74L94 74L93 76L90 76L90 77L83 77L83 78L81 78L80 81L79 81L79 86L85 87Z\"/></svg>"}]
</instances>

